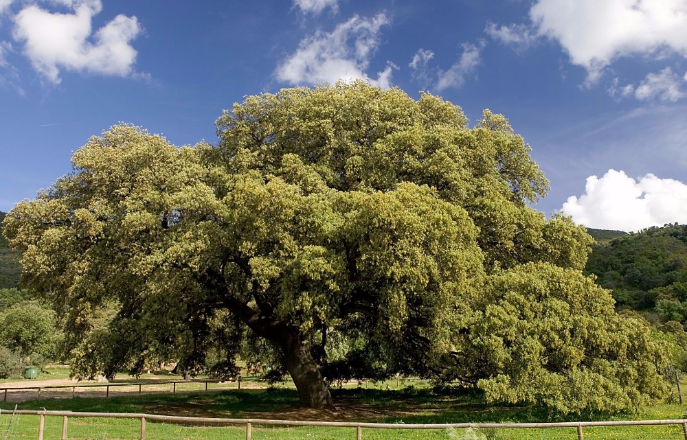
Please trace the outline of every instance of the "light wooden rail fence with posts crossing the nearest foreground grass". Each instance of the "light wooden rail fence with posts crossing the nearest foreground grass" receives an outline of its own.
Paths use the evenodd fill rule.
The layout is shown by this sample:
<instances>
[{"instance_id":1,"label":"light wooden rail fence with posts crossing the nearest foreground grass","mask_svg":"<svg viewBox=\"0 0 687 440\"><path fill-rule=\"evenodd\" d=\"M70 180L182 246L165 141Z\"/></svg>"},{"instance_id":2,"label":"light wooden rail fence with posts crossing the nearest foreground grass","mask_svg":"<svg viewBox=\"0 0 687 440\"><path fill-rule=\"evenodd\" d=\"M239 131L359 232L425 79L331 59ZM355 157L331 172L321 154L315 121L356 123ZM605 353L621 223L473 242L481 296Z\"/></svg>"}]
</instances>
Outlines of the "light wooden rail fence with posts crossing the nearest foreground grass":
<instances>
[{"instance_id":1,"label":"light wooden rail fence with posts crossing the nearest foreground grass","mask_svg":"<svg viewBox=\"0 0 687 440\"><path fill-rule=\"evenodd\" d=\"M173 415L154 415L144 413L78 413L72 411L33 411L33 410L0 410L1 414L38 415L38 440L43 440L45 417L63 417L62 439L67 439L67 425L69 417L94 417L115 419L139 419L141 421L140 439L146 439L146 421L167 421L177 424L213 424L213 425L245 425L246 440L251 440L254 425L267 426L319 426L330 428L354 428L357 440L363 438L363 428L368 429L447 429L447 428L499 428L499 429L527 429L527 428L574 428L578 440L584 439L583 428L600 426L682 426L685 440L687 440L687 419L673 420L614 420L614 421L563 421L553 423L460 423L460 424L380 424L353 421L304 421L304 420L275 420L275 419L227 419L213 417L180 417Z\"/></svg>"}]
</instances>

